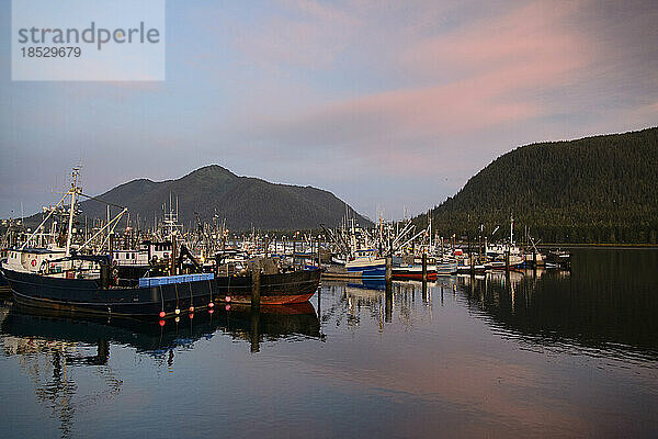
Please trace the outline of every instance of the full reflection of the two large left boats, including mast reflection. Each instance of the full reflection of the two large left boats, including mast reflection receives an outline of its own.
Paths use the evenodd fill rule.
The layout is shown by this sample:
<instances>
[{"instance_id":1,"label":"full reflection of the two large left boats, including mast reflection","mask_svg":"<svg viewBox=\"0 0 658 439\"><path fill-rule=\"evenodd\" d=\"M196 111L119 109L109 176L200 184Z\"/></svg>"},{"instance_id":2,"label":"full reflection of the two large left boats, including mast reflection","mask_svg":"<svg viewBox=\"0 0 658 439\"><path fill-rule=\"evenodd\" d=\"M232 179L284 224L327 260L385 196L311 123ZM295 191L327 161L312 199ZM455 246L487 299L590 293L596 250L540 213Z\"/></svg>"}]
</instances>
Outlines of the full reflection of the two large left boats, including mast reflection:
<instances>
[{"instance_id":1,"label":"full reflection of the two large left boats, including mast reflection","mask_svg":"<svg viewBox=\"0 0 658 439\"><path fill-rule=\"evenodd\" d=\"M106 401L121 391L123 381L109 367L111 350L117 345L166 361L171 369L174 351L192 349L195 341L215 334L248 341L251 352L258 352L262 341L322 339L319 319L309 303L261 307L253 313L234 305L229 311L215 309L193 318L181 316L163 326L135 319L80 318L0 303L0 319L3 354L18 358L33 382L37 401L48 406L59 421L64 438L71 432L78 407ZM97 392L79 394L71 368L80 367L94 368L92 376L100 386ZM83 380L86 389L90 381Z\"/></svg>"}]
</instances>

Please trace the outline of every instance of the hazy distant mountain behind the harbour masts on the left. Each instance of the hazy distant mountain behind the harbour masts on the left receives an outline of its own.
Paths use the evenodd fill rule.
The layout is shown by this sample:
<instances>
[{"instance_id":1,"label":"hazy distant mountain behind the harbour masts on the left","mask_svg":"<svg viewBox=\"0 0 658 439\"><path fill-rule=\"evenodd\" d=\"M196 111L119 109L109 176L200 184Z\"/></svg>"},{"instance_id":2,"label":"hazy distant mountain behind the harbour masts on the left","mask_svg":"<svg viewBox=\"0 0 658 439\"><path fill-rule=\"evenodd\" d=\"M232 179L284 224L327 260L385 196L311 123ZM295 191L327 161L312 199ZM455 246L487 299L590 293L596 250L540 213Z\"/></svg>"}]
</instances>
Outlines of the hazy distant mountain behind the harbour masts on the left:
<instances>
[{"instance_id":1,"label":"hazy distant mountain behind the harbour masts on the left","mask_svg":"<svg viewBox=\"0 0 658 439\"><path fill-rule=\"evenodd\" d=\"M229 170L212 165L200 168L178 180L155 182L147 179L121 184L99 200L128 207L131 221L137 215L141 226L152 226L154 218L162 219L162 206L169 209L170 194L179 203L179 222L195 224L195 212L202 221L211 222L217 214L226 218L231 230L250 229L309 229L320 224L337 226L345 215L356 217L360 224L371 224L334 194L311 187L275 184L268 181L238 177ZM106 206L93 200L80 203L82 214L90 218L106 218ZM113 207L112 213L118 213Z\"/></svg>"}]
</instances>

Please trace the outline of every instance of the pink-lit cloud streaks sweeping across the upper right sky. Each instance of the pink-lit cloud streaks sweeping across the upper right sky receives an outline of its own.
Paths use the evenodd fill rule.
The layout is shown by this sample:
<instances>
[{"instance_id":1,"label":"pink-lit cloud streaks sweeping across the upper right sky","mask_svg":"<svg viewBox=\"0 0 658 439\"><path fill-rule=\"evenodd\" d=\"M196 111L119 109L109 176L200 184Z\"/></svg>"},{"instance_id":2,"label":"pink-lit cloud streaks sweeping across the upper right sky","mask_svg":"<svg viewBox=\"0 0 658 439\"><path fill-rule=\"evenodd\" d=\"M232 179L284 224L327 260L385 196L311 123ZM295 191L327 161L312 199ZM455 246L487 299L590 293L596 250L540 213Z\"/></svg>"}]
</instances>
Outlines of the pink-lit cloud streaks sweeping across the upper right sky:
<instances>
[{"instance_id":1,"label":"pink-lit cloud streaks sweeping across the upper right sky","mask_svg":"<svg viewBox=\"0 0 658 439\"><path fill-rule=\"evenodd\" d=\"M577 5L533 2L449 34L417 37L399 54L398 67L411 83L422 78L430 85L325 103L268 123L284 137L314 132L328 144L359 144L370 154L545 115L551 109L536 95L575 80L590 61L587 38L560 24ZM442 80L442 70L458 79Z\"/></svg>"}]
</instances>

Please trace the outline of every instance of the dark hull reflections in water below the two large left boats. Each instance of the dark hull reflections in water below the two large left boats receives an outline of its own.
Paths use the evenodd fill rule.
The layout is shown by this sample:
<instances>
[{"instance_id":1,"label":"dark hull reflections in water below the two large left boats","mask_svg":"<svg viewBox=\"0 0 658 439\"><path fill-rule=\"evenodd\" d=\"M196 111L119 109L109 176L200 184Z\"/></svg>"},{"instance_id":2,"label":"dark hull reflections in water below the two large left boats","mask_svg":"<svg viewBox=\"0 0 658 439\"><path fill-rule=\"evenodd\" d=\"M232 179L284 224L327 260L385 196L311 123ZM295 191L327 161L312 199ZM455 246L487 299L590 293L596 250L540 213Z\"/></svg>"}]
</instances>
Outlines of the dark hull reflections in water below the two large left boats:
<instances>
[{"instance_id":1,"label":"dark hull reflections in water below the two large left boats","mask_svg":"<svg viewBox=\"0 0 658 439\"><path fill-rule=\"evenodd\" d=\"M80 318L66 312L24 308L14 304L2 322L2 334L4 338L18 337L29 340L31 345L35 339L87 345L102 342L103 346L109 342L121 344L134 347L138 352L156 356L177 347L191 347L202 337L209 338L217 331L249 341L254 352L259 351L263 340L274 341L295 336L321 338L319 319L308 302L261 306L258 312L251 312L250 306L231 305L196 313L192 318L181 315L180 318L161 323L129 318ZM109 346L99 348L99 351L104 349L109 349Z\"/></svg>"}]
</instances>

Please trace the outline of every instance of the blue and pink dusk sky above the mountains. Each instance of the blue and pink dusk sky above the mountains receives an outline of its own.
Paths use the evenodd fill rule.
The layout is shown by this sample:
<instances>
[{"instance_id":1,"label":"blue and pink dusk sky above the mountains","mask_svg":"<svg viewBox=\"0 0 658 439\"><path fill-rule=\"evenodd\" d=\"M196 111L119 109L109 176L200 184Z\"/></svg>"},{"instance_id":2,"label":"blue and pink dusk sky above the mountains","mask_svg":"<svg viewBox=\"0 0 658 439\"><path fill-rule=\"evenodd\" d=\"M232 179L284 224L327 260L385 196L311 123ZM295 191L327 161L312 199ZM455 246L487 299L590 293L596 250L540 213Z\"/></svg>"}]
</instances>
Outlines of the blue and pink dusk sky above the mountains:
<instances>
[{"instance_id":1,"label":"blue and pink dusk sky above the mountains","mask_svg":"<svg viewBox=\"0 0 658 439\"><path fill-rule=\"evenodd\" d=\"M0 216L209 164L418 214L521 145L658 125L657 1L168 0L164 81L12 81Z\"/></svg>"}]
</instances>

